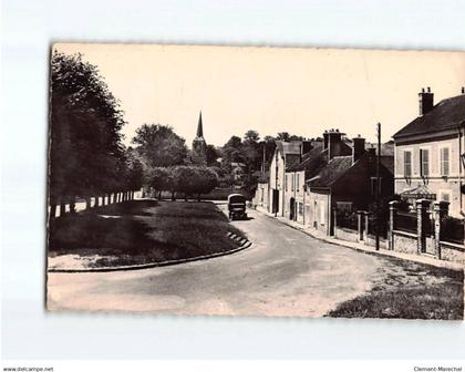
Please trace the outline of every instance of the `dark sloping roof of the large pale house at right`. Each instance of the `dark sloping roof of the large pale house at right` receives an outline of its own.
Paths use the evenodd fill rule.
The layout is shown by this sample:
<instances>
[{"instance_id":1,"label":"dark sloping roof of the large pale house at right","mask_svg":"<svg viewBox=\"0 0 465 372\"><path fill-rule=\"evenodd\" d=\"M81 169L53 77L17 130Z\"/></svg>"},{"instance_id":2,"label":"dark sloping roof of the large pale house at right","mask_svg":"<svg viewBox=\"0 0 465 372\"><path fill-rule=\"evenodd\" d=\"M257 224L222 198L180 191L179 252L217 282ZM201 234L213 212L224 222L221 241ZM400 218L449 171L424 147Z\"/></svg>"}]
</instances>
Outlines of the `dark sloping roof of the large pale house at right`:
<instances>
[{"instance_id":1,"label":"dark sloping roof of the large pale house at right","mask_svg":"<svg viewBox=\"0 0 465 372\"><path fill-rule=\"evenodd\" d=\"M464 125L465 94L446 99L436 104L432 111L405 125L393 135L393 138L415 134L435 133Z\"/></svg>"}]
</instances>

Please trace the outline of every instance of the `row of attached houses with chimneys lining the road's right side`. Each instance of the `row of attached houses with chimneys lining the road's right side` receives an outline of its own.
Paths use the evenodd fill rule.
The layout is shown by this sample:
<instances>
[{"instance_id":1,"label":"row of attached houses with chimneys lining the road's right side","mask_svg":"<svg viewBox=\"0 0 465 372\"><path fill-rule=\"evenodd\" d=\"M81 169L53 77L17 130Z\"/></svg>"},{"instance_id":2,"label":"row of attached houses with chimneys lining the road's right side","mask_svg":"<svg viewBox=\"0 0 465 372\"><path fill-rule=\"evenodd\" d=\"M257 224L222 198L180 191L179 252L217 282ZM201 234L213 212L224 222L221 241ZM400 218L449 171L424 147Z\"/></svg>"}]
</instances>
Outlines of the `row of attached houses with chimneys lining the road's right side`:
<instances>
[{"instance_id":1,"label":"row of attached houses with chimneys lining the road's right side","mask_svg":"<svg viewBox=\"0 0 465 372\"><path fill-rule=\"evenodd\" d=\"M381 147L381 197L394 194L392 147ZM326 131L317 141L278 141L267 175L257 185L257 207L330 235L334 209L353 213L375 200L376 153L360 136Z\"/></svg>"}]
</instances>

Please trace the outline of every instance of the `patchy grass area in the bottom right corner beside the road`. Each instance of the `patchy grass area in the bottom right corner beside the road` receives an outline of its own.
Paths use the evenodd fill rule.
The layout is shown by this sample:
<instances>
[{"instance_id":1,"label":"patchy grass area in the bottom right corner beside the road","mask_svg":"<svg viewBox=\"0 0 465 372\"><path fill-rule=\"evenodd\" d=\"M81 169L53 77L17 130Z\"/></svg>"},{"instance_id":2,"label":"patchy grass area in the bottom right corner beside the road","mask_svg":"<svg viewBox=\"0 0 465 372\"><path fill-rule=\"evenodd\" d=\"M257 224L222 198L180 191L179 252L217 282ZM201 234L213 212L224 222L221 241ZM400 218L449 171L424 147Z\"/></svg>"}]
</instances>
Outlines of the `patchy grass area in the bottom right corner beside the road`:
<instances>
[{"instance_id":1,"label":"patchy grass area in the bottom right corner beside the road","mask_svg":"<svg viewBox=\"0 0 465 372\"><path fill-rule=\"evenodd\" d=\"M386 258L383 280L328 317L463 320L464 272Z\"/></svg>"}]
</instances>

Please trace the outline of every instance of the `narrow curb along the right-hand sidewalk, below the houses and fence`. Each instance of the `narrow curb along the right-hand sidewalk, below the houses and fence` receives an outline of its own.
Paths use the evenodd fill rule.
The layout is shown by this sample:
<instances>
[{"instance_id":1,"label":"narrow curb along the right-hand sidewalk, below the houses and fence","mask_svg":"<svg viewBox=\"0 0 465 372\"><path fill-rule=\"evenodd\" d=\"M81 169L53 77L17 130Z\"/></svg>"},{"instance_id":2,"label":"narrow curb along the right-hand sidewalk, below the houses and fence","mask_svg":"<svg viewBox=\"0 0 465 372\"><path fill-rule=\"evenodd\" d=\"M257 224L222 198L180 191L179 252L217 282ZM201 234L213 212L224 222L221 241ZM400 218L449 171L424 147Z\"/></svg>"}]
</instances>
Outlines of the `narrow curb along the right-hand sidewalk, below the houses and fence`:
<instances>
[{"instance_id":1,"label":"narrow curb along the right-hand sidewalk, below the houses and fence","mask_svg":"<svg viewBox=\"0 0 465 372\"><path fill-rule=\"evenodd\" d=\"M328 244L332 244L334 246L349 248L349 249L355 250L355 251L361 252L361 254L371 255L371 256L380 256L380 257L391 257L391 258L395 258L395 259L400 259L400 260L409 260L411 262L423 264L423 265L433 266L433 267L443 268L443 269L448 269L448 270L454 270L454 271L463 271L464 270L464 267L461 264L457 264L457 262L438 261L438 262L443 262L443 264L435 265L435 262L424 262L422 260L417 260L417 259L415 259L415 257L399 257L399 256L395 256L395 255L390 255L390 254L383 252L381 250L365 250L363 248L352 247L352 246L345 245L344 240L338 239L338 241L333 241L333 240L330 240L330 239L318 237L318 236L311 234L311 231L308 231L308 230L304 230L303 228L300 228L298 226L293 226L291 224L288 224L287 221L280 220L275 216L270 216L270 215L265 214L265 213L262 213L262 215L270 218L270 219L277 220L280 224L289 226L290 228L293 228L294 230L298 230L298 231L300 231L300 232L302 232L307 236L310 236L310 237L312 237L317 240L324 241L324 242L328 242Z\"/></svg>"}]
</instances>

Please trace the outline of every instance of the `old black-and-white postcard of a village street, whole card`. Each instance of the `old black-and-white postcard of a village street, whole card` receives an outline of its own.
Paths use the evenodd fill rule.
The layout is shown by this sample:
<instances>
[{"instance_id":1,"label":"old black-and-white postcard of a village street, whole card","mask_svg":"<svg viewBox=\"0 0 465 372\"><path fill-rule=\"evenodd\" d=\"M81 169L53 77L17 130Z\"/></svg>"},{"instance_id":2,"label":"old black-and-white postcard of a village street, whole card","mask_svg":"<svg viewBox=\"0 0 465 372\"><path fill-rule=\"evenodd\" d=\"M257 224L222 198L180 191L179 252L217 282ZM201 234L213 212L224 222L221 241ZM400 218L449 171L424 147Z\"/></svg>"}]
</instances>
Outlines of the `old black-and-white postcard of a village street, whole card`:
<instances>
[{"instance_id":1,"label":"old black-and-white postcard of a village street, whole card","mask_svg":"<svg viewBox=\"0 0 465 372\"><path fill-rule=\"evenodd\" d=\"M465 53L59 43L46 308L463 320Z\"/></svg>"}]
</instances>

